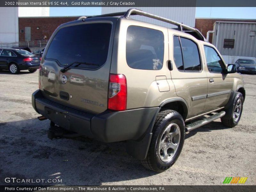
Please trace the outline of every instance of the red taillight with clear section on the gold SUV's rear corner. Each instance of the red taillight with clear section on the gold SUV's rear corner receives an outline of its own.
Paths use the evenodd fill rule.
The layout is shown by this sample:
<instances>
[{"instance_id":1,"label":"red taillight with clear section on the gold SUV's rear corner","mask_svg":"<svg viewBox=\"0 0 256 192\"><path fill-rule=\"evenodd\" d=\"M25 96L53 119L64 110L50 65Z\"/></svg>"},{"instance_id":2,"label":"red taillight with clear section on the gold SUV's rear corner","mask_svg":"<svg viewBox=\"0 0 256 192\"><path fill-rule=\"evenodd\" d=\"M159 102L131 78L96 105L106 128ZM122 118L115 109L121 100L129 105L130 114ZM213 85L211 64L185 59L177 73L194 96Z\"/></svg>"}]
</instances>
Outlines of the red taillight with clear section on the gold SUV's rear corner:
<instances>
[{"instance_id":1,"label":"red taillight with clear section on the gold SUV's rear corner","mask_svg":"<svg viewBox=\"0 0 256 192\"><path fill-rule=\"evenodd\" d=\"M126 110L127 83L122 74L109 75L108 109L115 111Z\"/></svg>"}]
</instances>

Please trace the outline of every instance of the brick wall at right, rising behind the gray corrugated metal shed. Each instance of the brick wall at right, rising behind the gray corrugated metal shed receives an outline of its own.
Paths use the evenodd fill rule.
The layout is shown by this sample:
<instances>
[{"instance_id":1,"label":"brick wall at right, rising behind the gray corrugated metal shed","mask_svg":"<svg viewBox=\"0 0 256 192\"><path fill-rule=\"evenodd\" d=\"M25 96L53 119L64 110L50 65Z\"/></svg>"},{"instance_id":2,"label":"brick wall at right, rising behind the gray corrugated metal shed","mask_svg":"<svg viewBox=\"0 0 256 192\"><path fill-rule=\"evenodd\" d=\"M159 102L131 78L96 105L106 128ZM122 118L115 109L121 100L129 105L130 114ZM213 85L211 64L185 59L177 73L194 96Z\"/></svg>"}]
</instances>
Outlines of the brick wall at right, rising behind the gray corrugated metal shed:
<instances>
[{"instance_id":1,"label":"brick wall at right, rising behind the gray corrugated metal shed","mask_svg":"<svg viewBox=\"0 0 256 192\"><path fill-rule=\"evenodd\" d=\"M215 21L233 21L233 22L256 22L256 20L232 20L232 19L200 19L196 18L195 28L197 28L206 38L207 31L213 30ZM212 34L210 33L209 42L212 43Z\"/></svg>"}]
</instances>

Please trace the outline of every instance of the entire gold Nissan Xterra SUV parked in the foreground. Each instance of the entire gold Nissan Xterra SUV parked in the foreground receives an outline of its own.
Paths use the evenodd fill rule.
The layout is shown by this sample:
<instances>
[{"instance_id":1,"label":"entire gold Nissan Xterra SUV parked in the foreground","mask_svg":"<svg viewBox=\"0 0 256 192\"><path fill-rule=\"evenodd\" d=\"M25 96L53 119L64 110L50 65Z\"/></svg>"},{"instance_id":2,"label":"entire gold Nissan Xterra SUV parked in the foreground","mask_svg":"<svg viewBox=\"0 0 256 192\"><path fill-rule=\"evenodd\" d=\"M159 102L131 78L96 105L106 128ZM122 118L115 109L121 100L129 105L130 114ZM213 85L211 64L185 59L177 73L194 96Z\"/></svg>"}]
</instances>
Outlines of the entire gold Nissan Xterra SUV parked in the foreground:
<instances>
[{"instance_id":1,"label":"entire gold Nissan Xterra SUV parked in the foreground","mask_svg":"<svg viewBox=\"0 0 256 192\"><path fill-rule=\"evenodd\" d=\"M40 120L51 120L49 138L126 140L128 154L162 172L180 155L186 131L217 118L236 126L244 98L236 66L226 66L197 29L129 9L60 25L45 48L32 105Z\"/></svg>"}]
</instances>

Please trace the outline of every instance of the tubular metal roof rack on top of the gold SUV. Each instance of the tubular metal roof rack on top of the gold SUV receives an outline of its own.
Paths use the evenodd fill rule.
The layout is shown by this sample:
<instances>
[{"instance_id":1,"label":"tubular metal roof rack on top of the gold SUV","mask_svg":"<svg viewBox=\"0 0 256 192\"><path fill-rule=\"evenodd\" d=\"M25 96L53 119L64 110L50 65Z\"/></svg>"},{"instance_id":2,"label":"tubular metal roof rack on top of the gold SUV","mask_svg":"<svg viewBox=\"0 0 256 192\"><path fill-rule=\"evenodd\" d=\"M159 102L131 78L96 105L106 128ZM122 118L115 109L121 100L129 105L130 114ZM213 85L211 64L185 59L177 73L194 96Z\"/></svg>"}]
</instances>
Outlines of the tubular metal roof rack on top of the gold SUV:
<instances>
[{"instance_id":1,"label":"tubular metal roof rack on top of the gold SUV","mask_svg":"<svg viewBox=\"0 0 256 192\"><path fill-rule=\"evenodd\" d=\"M193 27L189 27L188 25L184 25L183 23L179 23L179 22L176 22L176 21L173 21L173 20L170 20L170 19L167 19L167 18L164 18L164 17L160 17L160 16L157 16L157 15L154 15L154 14L151 14L151 13L148 13L148 12L144 12L144 11L141 11L139 9L128 9L127 12L118 12L118 13L109 13L109 14L104 14L104 15L96 15L96 16L81 16L78 18L78 20L81 18L81 19L86 19L86 18L96 18L96 17L116 17L116 16L123 16L125 18L129 18L131 15L141 15L141 16L145 16L145 17L149 17L149 18L152 18L152 19L156 19L156 20L160 20L160 21L164 21L166 23L170 23L172 25L176 25L178 26L178 30L179 31L184 31L185 33L192 33L194 32L195 33L195 37L199 40L202 40L202 41L206 41L206 39L204 38L204 36L202 35L202 33L200 33L200 31L196 28L193 28ZM183 29L186 29L186 30L183 30ZM191 34L192 35L192 34Z\"/></svg>"}]
</instances>

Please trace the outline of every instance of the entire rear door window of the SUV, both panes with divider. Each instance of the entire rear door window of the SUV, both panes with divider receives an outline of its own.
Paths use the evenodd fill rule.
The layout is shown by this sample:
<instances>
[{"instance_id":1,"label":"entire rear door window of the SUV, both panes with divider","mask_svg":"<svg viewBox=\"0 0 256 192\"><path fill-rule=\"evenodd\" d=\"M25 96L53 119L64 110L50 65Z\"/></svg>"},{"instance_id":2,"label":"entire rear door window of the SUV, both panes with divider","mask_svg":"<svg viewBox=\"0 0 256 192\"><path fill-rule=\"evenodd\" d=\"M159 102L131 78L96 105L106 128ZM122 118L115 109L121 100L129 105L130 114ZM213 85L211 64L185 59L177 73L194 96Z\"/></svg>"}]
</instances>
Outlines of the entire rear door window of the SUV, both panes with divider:
<instances>
[{"instance_id":1,"label":"entire rear door window of the SUV, both panes with divider","mask_svg":"<svg viewBox=\"0 0 256 192\"><path fill-rule=\"evenodd\" d=\"M181 49L182 48L182 49ZM192 40L187 38L173 37L174 63L179 70L200 71L201 60L199 49Z\"/></svg>"}]
</instances>

